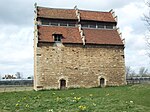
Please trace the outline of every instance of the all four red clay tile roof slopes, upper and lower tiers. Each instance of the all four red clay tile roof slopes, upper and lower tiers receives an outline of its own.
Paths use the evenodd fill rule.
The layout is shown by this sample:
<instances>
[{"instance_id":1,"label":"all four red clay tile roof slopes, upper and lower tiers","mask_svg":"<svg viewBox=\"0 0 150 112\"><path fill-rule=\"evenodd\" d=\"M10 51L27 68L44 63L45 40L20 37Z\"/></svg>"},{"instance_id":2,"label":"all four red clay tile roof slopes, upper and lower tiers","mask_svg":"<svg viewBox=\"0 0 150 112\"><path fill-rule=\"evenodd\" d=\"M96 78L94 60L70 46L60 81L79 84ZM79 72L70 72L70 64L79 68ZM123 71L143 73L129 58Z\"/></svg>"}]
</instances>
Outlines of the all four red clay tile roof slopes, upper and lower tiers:
<instances>
[{"instance_id":1,"label":"all four red clay tile roof slopes, upper and lower tiers","mask_svg":"<svg viewBox=\"0 0 150 112\"><path fill-rule=\"evenodd\" d=\"M116 22L110 12L96 12L79 10L81 21L92 20L102 22ZM38 17L53 19L76 19L74 9L52 9L38 7ZM62 43L80 43L82 39L77 27L38 26L39 42L54 42L53 34L62 34ZM83 29L86 44L124 45L117 30Z\"/></svg>"}]
</instances>

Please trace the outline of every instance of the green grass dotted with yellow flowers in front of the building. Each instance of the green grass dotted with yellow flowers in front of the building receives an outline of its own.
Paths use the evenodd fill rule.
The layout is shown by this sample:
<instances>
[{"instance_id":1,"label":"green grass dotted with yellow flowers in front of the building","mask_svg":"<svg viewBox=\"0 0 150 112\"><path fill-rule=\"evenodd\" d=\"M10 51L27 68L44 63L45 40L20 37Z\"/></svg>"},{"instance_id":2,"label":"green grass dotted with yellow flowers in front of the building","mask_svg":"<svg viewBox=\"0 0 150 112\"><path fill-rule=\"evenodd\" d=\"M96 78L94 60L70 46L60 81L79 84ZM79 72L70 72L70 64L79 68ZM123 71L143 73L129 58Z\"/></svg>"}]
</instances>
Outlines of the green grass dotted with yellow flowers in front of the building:
<instances>
[{"instance_id":1,"label":"green grass dotted with yellow flowers in front of the building","mask_svg":"<svg viewBox=\"0 0 150 112\"><path fill-rule=\"evenodd\" d=\"M0 112L150 112L150 85L0 93Z\"/></svg>"}]
</instances>

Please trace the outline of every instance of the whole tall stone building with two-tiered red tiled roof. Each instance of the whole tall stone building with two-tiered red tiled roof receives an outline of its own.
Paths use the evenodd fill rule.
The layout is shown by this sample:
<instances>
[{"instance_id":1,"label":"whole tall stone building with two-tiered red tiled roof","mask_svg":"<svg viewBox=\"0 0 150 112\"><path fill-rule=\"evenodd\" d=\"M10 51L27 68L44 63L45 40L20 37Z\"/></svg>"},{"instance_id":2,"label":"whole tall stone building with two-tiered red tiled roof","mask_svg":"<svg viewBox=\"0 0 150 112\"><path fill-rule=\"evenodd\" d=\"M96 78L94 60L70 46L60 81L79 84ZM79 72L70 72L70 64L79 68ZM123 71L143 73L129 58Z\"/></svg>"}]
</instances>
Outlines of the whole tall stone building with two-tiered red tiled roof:
<instances>
[{"instance_id":1,"label":"whole tall stone building with two-tiered red tiled roof","mask_svg":"<svg viewBox=\"0 0 150 112\"><path fill-rule=\"evenodd\" d=\"M34 89L126 84L124 43L109 12L35 6Z\"/></svg>"}]
</instances>

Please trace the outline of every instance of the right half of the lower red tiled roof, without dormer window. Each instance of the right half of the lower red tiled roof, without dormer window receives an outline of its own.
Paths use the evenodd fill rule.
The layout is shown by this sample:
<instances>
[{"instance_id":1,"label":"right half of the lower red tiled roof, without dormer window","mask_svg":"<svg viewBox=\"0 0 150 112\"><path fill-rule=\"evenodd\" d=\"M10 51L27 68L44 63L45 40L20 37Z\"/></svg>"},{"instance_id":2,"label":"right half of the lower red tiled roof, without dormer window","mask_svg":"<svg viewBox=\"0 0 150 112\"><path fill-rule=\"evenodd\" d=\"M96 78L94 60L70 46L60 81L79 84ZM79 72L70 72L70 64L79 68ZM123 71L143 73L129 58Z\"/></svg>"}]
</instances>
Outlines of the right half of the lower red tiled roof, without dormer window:
<instances>
[{"instance_id":1,"label":"right half of the lower red tiled roof, without dormer window","mask_svg":"<svg viewBox=\"0 0 150 112\"><path fill-rule=\"evenodd\" d=\"M123 45L117 30L83 29L86 44Z\"/></svg>"}]
</instances>

